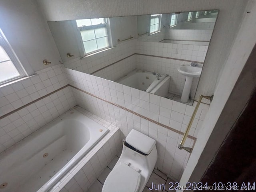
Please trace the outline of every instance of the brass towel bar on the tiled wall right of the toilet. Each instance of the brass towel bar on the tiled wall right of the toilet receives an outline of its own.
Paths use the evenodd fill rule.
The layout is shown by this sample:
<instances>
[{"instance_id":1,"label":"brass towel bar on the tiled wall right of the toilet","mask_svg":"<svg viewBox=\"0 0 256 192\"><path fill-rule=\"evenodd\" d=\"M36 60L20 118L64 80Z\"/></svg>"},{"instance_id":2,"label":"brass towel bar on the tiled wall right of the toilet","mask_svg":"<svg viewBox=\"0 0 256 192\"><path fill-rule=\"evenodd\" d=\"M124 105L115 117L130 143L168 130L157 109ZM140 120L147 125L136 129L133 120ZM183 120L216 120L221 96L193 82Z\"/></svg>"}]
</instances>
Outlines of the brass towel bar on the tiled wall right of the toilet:
<instances>
[{"instance_id":1,"label":"brass towel bar on the tiled wall right of the toilet","mask_svg":"<svg viewBox=\"0 0 256 192\"><path fill-rule=\"evenodd\" d=\"M185 143L185 141L186 141L186 138L188 137L188 132L189 132L190 127L191 127L191 125L192 125L192 123L193 123L193 121L194 121L194 118L195 118L195 116L196 116L196 112L197 112L197 110L198 110L198 108L199 108L199 105L200 105L200 103L201 103L201 101L202 101L202 98L206 98L206 99L209 99L209 100L212 101L213 95L212 95L212 96L203 96L203 95L200 95L199 100L198 100L198 102L197 102L197 104L196 104L196 107L195 107L195 109L194 109L194 112L192 113L192 116L191 116L191 118L190 118L190 120L189 120L187 129L186 129L186 131L185 131L185 133L184 133L184 135L183 135L183 137L182 137L182 140L181 140L180 144L178 145L178 148L179 148L180 150L181 150L181 149L184 149L184 150L188 151L189 153L191 153L193 149L192 149L191 147L184 147L183 145L184 145L184 143Z\"/></svg>"}]
</instances>

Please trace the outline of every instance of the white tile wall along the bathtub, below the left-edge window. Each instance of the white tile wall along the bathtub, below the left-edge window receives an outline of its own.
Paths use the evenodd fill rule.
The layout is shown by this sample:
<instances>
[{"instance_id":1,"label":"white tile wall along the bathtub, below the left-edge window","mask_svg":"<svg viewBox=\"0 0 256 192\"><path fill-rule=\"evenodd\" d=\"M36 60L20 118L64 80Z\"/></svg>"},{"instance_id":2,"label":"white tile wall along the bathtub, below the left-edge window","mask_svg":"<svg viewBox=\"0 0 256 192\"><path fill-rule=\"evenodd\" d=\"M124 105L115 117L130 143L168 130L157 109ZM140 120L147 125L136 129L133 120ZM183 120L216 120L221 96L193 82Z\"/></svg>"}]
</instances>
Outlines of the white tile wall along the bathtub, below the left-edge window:
<instances>
[{"instance_id":1,"label":"white tile wall along the bathtub, below the left-edge window","mask_svg":"<svg viewBox=\"0 0 256 192\"><path fill-rule=\"evenodd\" d=\"M0 116L67 85L61 65L48 67L36 73L30 78L0 88ZM0 119L0 152L75 105L72 92L66 87Z\"/></svg>"}]
</instances>

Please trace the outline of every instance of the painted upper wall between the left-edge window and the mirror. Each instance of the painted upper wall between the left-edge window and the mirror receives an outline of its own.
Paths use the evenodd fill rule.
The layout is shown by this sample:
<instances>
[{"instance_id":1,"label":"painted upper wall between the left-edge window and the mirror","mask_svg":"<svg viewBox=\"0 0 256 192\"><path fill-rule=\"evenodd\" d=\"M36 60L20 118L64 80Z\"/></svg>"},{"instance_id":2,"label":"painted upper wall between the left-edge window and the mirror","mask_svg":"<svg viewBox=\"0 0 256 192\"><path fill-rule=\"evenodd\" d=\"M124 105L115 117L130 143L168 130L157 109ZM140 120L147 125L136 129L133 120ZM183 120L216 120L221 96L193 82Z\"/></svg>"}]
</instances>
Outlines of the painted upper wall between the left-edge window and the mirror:
<instances>
[{"instance_id":1,"label":"painted upper wall between the left-edge window and the mirror","mask_svg":"<svg viewBox=\"0 0 256 192\"><path fill-rule=\"evenodd\" d=\"M0 28L30 75L48 67L44 59L51 65L59 63L58 50L35 0L2 0Z\"/></svg>"}]
</instances>

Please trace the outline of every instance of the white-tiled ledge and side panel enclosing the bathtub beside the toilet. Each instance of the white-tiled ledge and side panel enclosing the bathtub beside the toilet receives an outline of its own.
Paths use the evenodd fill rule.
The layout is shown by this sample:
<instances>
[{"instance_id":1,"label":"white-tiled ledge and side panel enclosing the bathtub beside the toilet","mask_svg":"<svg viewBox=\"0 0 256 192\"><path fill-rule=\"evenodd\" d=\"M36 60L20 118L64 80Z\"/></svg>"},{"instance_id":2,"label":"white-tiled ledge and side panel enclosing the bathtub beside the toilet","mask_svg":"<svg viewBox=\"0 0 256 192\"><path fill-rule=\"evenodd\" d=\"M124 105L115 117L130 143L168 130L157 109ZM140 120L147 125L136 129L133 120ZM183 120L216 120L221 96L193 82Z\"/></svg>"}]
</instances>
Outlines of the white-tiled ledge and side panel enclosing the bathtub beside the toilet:
<instances>
[{"instance_id":1,"label":"white-tiled ledge and side panel enclosing the bathtub beside the toilet","mask_svg":"<svg viewBox=\"0 0 256 192\"><path fill-rule=\"evenodd\" d=\"M81 113L108 128L110 132L66 173L50 192L86 192L104 171L115 155L122 149L118 127L106 120L77 107Z\"/></svg>"}]
</instances>

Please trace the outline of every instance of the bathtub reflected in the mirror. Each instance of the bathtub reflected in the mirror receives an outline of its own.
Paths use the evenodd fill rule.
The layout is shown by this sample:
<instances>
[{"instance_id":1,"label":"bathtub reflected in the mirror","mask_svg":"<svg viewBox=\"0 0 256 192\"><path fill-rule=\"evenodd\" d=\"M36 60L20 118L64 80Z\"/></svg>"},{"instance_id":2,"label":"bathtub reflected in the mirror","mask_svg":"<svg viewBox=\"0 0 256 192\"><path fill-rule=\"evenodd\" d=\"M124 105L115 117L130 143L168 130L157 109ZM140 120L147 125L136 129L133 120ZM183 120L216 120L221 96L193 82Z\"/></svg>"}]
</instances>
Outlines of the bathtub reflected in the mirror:
<instances>
[{"instance_id":1,"label":"bathtub reflected in the mirror","mask_svg":"<svg viewBox=\"0 0 256 192\"><path fill-rule=\"evenodd\" d=\"M162 76L158 80L157 75L153 75L152 72L135 69L132 72L126 74L126 76L116 80L116 82L151 93L152 90L158 84L160 84L160 82L166 79L166 76L164 74L161 74L161 75ZM169 77L169 82L170 82L170 77ZM167 89L167 92L168 92L168 89Z\"/></svg>"}]
</instances>

